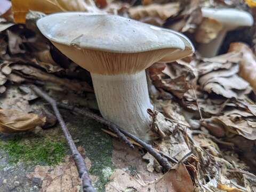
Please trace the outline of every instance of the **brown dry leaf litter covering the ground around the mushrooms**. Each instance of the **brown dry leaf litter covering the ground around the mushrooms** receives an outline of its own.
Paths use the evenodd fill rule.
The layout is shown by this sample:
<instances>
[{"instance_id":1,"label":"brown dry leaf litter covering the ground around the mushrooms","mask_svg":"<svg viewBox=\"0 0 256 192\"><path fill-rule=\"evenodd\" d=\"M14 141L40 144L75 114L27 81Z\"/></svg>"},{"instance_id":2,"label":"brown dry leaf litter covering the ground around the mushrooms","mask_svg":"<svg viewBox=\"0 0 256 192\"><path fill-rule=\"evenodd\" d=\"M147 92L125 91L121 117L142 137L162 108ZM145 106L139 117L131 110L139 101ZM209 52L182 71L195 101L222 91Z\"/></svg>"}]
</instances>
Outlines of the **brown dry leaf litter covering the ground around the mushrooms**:
<instances>
[{"instance_id":1,"label":"brown dry leaf litter covering the ground around the mushrooms","mask_svg":"<svg viewBox=\"0 0 256 192\"><path fill-rule=\"evenodd\" d=\"M30 107L29 102L37 97L23 84L34 82L52 92L65 90L68 94L64 102L70 102L68 95L74 98L93 92L89 73L38 33L35 21L45 14L60 11L121 14L185 33L197 45L211 42L222 28L217 21L202 17L202 7L248 10L243 1L157 0L141 4L96 1L95 4L44 0L26 1L29 6L12 1L10 12L10 2L3 2L5 6L0 10L2 132L27 131L43 126L47 118L54 125L54 117L47 113L40 116ZM14 20L24 24L15 24ZM154 157L139 145L133 151L114 139L112 161L116 169L110 174L106 191L255 191L254 54L249 46L235 43L227 53L213 58L202 58L195 53L172 63L154 63L147 69L155 90L151 98L159 111L152 116L152 127L159 139L152 144L167 159L173 158L178 163L171 163L172 169L163 173ZM13 85L18 85L23 93L13 89ZM16 98L12 99L12 95ZM91 105L76 102L76 105ZM15 122L13 118L22 121ZM86 165L89 164L87 159ZM77 191L80 186L69 156L53 169L36 166L28 177L41 178L42 191L60 187L63 191Z\"/></svg>"}]
</instances>

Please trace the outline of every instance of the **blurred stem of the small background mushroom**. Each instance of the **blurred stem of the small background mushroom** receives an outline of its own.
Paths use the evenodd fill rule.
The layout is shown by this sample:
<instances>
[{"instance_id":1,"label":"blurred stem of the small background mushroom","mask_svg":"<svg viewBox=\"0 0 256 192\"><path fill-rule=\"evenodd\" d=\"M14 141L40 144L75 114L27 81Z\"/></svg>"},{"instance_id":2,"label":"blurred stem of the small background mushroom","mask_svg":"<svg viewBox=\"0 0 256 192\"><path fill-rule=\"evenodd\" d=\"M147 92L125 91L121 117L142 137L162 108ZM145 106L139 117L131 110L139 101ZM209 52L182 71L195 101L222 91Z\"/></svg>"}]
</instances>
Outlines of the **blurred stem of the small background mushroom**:
<instances>
[{"instance_id":1,"label":"blurred stem of the small background mushroom","mask_svg":"<svg viewBox=\"0 0 256 192\"><path fill-rule=\"evenodd\" d=\"M202 43L198 48L199 53L201 53L203 57L207 57L207 58L216 56L226 36L226 33L227 33L227 30L222 29L218 34L218 37L213 39L213 41L207 44Z\"/></svg>"}]
</instances>

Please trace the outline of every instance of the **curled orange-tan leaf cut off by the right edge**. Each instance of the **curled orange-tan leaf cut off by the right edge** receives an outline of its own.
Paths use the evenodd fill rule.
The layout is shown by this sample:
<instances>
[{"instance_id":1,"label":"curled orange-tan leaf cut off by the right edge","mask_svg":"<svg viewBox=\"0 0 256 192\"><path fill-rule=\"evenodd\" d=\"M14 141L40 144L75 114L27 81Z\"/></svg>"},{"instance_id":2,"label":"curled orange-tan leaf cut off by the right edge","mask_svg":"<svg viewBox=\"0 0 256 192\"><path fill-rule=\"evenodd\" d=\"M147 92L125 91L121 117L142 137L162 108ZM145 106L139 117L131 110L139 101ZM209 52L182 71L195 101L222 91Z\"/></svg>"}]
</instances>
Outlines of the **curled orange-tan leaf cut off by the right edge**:
<instances>
[{"instance_id":1,"label":"curled orange-tan leaf cut off by the right edge","mask_svg":"<svg viewBox=\"0 0 256 192\"><path fill-rule=\"evenodd\" d=\"M243 77L253 87L256 93L256 58L250 47L244 43L231 43L229 51L242 53L239 62L239 76Z\"/></svg>"}]
</instances>

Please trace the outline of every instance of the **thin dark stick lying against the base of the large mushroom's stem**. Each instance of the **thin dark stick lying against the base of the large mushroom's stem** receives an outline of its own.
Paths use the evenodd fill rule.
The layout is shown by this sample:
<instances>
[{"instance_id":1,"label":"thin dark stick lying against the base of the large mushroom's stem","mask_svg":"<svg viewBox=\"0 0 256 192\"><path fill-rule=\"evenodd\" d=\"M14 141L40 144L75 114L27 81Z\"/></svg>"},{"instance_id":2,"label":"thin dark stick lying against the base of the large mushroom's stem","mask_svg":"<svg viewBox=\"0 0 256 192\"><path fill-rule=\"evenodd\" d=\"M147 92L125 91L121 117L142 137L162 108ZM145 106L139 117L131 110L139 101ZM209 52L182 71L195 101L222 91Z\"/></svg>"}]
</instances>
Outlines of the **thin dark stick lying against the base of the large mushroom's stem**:
<instances>
[{"instance_id":1,"label":"thin dark stick lying against the base of the large mushroom's stem","mask_svg":"<svg viewBox=\"0 0 256 192\"><path fill-rule=\"evenodd\" d=\"M64 103L58 103L58 106L61 107L61 108L64 108L64 109L73 110L76 113L79 113L79 114L82 114L86 117L92 118L92 119L94 119L94 120L96 120L96 121L98 121L98 122L100 122L104 125L107 125L111 130L118 129L118 131L122 132L124 135L126 135L126 137L131 138L132 140L139 143L143 148L145 148L148 151L149 154L151 154L153 157L156 158L157 162L161 166L163 166L163 168L166 171L171 169L171 165L167 161L167 159L165 157L161 156L159 153L157 153L151 145L149 145L148 143L146 143L146 142L142 141L141 139L135 137L133 134L124 131L123 129L121 129L121 127L117 126L116 124L100 117L99 115L93 114L90 111L82 110L82 109L79 109L77 107L66 105Z\"/></svg>"}]
</instances>

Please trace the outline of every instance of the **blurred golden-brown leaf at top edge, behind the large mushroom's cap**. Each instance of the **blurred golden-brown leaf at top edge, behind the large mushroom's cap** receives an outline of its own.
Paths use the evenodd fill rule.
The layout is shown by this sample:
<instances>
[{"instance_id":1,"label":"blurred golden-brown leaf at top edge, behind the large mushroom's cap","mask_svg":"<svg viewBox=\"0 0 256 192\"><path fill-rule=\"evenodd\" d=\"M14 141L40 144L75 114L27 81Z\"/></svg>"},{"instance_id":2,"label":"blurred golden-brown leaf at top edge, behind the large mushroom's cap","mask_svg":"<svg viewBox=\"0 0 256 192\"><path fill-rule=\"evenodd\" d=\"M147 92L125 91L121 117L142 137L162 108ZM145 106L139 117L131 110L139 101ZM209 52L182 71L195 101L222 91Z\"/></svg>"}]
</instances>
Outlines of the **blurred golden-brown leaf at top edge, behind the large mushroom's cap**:
<instances>
[{"instance_id":1,"label":"blurred golden-brown leaf at top edge, behind the large mushroom's cap","mask_svg":"<svg viewBox=\"0 0 256 192\"><path fill-rule=\"evenodd\" d=\"M99 10L92 0L12 0L14 21L26 22L29 10L40 11L46 14L64 11L83 11L89 13L104 13Z\"/></svg>"}]
</instances>

